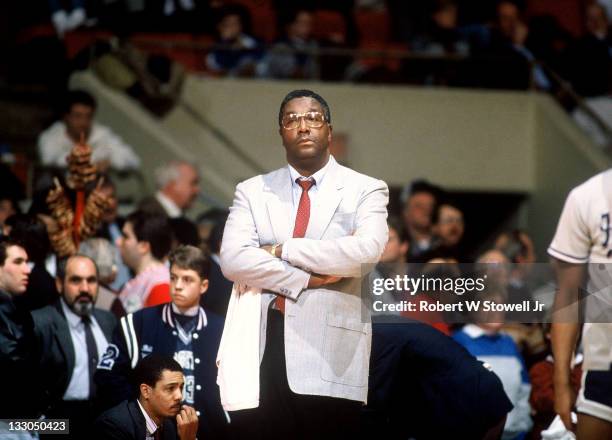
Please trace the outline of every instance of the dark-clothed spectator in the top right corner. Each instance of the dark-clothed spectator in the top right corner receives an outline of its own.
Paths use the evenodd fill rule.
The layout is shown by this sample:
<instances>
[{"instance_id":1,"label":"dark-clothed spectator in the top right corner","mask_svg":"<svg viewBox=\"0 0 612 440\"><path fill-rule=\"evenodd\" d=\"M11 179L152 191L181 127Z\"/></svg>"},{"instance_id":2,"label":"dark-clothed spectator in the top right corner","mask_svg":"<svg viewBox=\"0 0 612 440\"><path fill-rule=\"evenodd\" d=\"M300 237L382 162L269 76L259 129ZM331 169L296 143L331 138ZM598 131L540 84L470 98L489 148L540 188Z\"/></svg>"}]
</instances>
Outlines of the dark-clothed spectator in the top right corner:
<instances>
[{"instance_id":1,"label":"dark-clothed spectator in the top right corner","mask_svg":"<svg viewBox=\"0 0 612 440\"><path fill-rule=\"evenodd\" d=\"M568 49L567 75L584 96L612 91L612 33L605 8L591 2L585 11L586 34Z\"/></svg>"}]
</instances>

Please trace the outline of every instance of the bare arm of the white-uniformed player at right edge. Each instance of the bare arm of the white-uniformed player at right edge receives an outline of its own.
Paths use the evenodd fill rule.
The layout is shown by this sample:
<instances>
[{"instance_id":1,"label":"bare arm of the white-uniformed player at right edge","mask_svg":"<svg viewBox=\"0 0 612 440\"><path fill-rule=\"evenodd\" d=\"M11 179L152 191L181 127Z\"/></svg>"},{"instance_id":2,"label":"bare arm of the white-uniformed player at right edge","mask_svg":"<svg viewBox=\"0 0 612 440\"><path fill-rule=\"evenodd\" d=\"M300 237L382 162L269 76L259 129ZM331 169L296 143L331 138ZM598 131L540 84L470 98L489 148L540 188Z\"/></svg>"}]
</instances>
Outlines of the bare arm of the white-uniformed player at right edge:
<instances>
[{"instance_id":1,"label":"bare arm of the white-uniformed player at right edge","mask_svg":"<svg viewBox=\"0 0 612 440\"><path fill-rule=\"evenodd\" d=\"M557 277L557 293L553 306L551 329L554 355L553 383L555 411L568 429L572 428L570 413L576 400L570 382L571 364L580 331L580 286L585 276L584 264L572 264L553 258Z\"/></svg>"}]
</instances>

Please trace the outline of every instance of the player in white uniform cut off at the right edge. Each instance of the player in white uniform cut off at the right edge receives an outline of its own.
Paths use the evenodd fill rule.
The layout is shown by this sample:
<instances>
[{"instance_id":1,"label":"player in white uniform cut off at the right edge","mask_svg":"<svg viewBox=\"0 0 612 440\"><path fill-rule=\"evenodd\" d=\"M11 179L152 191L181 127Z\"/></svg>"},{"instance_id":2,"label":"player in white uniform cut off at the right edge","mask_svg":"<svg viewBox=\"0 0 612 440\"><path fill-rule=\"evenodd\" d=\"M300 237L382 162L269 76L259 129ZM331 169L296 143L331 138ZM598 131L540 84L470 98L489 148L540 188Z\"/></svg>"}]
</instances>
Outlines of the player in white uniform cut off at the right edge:
<instances>
[{"instance_id":1,"label":"player in white uniform cut off at the right edge","mask_svg":"<svg viewBox=\"0 0 612 440\"><path fill-rule=\"evenodd\" d=\"M585 362L576 400L578 440L612 439L611 225L612 170L608 170L570 192L548 248L558 285L552 326L555 411L568 429L575 400L570 363L584 322ZM585 295L580 291L586 275Z\"/></svg>"}]
</instances>

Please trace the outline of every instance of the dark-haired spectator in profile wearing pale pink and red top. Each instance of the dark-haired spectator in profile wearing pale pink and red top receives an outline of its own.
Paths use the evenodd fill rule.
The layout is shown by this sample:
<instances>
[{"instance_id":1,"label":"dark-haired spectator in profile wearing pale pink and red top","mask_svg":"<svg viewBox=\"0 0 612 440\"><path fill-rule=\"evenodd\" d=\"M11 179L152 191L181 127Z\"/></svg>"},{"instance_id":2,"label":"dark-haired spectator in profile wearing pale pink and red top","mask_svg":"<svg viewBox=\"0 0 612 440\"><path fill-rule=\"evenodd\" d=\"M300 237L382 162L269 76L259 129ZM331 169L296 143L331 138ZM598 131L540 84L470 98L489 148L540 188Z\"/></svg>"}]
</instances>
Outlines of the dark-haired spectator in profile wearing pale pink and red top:
<instances>
[{"instance_id":1,"label":"dark-haired spectator in profile wearing pale pink and red top","mask_svg":"<svg viewBox=\"0 0 612 440\"><path fill-rule=\"evenodd\" d=\"M136 274L119 294L127 313L170 301L170 276L163 263L172 245L170 230L164 215L136 211L125 220L117 246L125 264Z\"/></svg>"}]
</instances>

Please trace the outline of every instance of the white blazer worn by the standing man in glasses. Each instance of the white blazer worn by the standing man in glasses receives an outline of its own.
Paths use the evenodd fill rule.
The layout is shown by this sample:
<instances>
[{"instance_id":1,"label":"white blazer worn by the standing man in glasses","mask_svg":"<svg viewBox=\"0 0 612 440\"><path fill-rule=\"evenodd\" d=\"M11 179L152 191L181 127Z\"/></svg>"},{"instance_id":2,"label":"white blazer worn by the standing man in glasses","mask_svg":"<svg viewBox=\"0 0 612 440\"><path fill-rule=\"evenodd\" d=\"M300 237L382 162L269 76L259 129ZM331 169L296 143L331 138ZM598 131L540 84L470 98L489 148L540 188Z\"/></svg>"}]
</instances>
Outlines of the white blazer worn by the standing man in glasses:
<instances>
[{"instance_id":1,"label":"white blazer worn by the standing man in glasses","mask_svg":"<svg viewBox=\"0 0 612 440\"><path fill-rule=\"evenodd\" d=\"M287 298L285 356L293 392L366 402L372 326L361 278L387 243L389 193L385 182L330 161L304 238L292 238L288 167L238 184L221 269L235 283L262 290L260 360L268 307L276 294ZM260 249L273 244L283 245L287 261ZM310 273L344 278L306 289Z\"/></svg>"}]
</instances>

